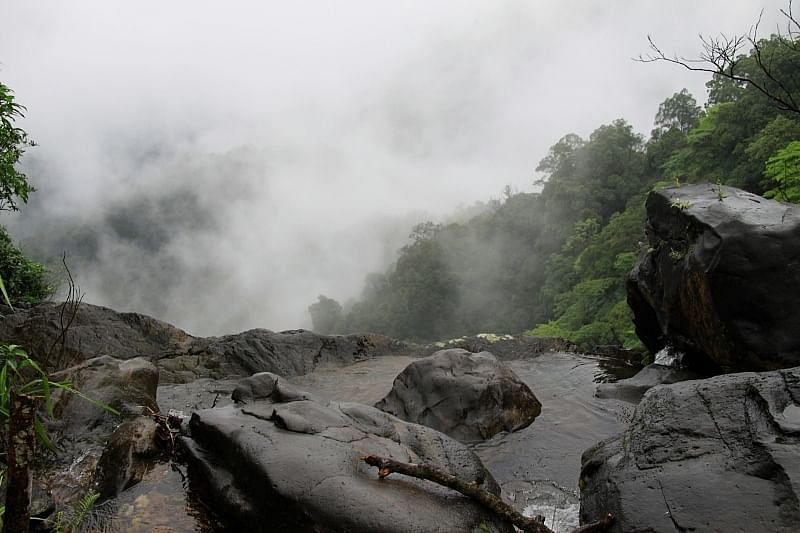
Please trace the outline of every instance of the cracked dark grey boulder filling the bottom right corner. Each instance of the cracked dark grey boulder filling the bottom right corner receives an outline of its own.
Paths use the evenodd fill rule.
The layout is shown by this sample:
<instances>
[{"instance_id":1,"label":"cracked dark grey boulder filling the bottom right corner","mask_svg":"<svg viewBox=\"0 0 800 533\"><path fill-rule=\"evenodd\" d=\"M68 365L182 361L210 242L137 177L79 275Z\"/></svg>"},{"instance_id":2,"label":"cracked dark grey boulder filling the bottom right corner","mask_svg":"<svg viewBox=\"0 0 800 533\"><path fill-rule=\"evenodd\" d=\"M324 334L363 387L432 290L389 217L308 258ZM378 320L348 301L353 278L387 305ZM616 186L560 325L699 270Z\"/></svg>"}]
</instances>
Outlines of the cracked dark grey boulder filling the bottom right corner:
<instances>
[{"instance_id":1,"label":"cracked dark grey boulder filling the bottom right corner","mask_svg":"<svg viewBox=\"0 0 800 533\"><path fill-rule=\"evenodd\" d=\"M581 522L616 532L797 531L800 368L651 389L583 454Z\"/></svg>"}]
</instances>

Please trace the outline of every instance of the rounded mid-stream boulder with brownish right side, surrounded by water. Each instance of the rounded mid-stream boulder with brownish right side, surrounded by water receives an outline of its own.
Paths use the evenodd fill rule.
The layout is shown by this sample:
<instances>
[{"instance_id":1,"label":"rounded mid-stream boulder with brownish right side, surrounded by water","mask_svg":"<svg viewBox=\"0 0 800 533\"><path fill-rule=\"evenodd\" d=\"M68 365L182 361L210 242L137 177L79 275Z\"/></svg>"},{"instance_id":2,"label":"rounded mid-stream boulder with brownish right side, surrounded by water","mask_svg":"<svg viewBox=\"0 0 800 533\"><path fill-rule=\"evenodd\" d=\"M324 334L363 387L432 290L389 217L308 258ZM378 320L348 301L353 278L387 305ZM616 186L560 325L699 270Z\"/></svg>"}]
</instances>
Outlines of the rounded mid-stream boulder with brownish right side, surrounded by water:
<instances>
[{"instance_id":1,"label":"rounded mid-stream boulder with brownish right side, surrounded by water","mask_svg":"<svg viewBox=\"0 0 800 533\"><path fill-rule=\"evenodd\" d=\"M542 411L531 389L494 355L458 348L408 365L375 407L464 442L522 429Z\"/></svg>"}]
</instances>

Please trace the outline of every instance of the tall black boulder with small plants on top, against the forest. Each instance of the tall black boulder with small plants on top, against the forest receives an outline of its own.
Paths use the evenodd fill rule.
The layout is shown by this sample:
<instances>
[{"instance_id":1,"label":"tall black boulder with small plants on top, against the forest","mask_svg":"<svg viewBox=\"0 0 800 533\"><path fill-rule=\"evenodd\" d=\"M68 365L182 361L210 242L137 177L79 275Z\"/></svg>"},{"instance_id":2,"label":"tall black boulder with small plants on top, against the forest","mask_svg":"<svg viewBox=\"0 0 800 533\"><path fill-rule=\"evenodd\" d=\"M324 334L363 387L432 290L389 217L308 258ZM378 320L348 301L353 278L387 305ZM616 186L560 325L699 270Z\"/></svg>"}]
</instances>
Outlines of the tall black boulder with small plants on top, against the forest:
<instances>
[{"instance_id":1,"label":"tall black boulder with small plants on top, against the forest","mask_svg":"<svg viewBox=\"0 0 800 533\"><path fill-rule=\"evenodd\" d=\"M636 332L712 371L800 365L800 208L730 187L647 198L649 248L628 282Z\"/></svg>"}]
</instances>

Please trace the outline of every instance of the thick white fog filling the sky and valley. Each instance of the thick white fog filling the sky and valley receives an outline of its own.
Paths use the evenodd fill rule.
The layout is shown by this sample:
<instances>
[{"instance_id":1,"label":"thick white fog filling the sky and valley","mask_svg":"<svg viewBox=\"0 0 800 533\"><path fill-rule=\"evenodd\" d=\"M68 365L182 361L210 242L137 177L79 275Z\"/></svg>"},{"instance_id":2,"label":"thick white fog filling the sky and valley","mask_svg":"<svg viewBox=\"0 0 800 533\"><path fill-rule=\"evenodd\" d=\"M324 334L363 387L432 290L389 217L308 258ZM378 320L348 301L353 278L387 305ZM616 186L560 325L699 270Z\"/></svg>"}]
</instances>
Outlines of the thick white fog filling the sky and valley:
<instances>
[{"instance_id":1,"label":"thick white fog filling the sky and valley","mask_svg":"<svg viewBox=\"0 0 800 533\"><path fill-rule=\"evenodd\" d=\"M0 80L28 108L39 189L4 214L66 252L86 301L194 334L308 327L410 227L533 190L569 132L707 77L697 55L782 1L7 2Z\"/></svg>"}]
</instances>

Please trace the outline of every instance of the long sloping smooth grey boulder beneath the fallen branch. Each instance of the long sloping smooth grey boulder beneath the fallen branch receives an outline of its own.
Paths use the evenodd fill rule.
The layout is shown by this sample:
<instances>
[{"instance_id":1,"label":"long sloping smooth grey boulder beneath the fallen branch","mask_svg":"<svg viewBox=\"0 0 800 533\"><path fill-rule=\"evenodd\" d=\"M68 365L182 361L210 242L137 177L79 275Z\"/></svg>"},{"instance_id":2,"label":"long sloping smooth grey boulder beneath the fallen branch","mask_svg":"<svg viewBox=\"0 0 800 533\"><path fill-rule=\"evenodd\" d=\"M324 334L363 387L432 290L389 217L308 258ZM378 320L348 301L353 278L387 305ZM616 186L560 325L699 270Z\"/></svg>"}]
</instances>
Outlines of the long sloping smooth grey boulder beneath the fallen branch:
<instances>
[{"instance_id":1,"label":"long sloping smooth grey boulder beneath the fallen branch","mask_svg":"<svg viewBox=\"0 0 800 533\"><path fill-rule=\"evenodd\" d=\"M425 463L499 487L466 446L437 431L354 403L324 402L259 374L236 405L197 411L190 477L241 531L511 532L480 505L427 481L379 480L368 454Z\"/></svg>"}]
</instances>

